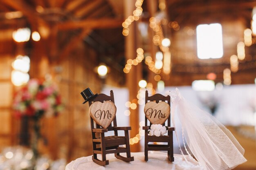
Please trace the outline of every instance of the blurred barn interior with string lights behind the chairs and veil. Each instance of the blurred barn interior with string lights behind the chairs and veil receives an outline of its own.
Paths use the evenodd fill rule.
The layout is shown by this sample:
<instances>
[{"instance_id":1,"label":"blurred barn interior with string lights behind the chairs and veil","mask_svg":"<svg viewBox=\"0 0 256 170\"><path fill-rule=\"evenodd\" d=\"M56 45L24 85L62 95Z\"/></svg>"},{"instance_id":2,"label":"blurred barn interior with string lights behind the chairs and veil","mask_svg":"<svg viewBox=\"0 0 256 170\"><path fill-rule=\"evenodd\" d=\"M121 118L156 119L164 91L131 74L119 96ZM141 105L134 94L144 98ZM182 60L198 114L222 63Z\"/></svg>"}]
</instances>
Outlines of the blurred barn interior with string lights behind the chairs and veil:
<instances>
[{"instance_id":1,"label":"blurred barn interior with string lights behind the chairs and veil","mask_svg":"<svg viewBox=\"0 0 256 170\"><path fill-rule=\"evenodd\" d=\"M131 150L143 151L145 91L178 87L245 148L248 161L236 170L255 170L255 7L256 0L1 0L0 169L29 169L38 154L37 169L61 170L92 155L80 95L88 87L114 91L117 124L132 126Z\"/></svg>"}]
</instances>

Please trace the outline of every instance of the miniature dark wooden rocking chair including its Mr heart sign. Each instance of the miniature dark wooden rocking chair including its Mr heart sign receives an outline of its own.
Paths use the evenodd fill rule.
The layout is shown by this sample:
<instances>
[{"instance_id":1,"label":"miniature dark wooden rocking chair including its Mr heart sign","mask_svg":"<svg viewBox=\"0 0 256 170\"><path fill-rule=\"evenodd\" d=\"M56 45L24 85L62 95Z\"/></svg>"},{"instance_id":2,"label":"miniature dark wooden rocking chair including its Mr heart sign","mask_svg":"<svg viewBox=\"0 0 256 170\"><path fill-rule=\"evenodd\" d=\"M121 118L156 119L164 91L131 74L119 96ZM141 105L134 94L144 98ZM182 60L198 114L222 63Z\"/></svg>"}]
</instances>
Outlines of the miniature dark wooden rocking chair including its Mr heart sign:
<instances>
[{"instance_id":1,"label":"miniature dark wooden rocking chair including its Mr heart sign","mask_svg":"<svg viewBox=\"0 0 256 170\"><path fill-rule=\"evenodd\" d=\"M131 130L131 127L117 127L116 116L115 114L113 115L113 113L111 113L116 112L113 91L110 91L110 96L105 94L99 94L96 97L89 99L88 101L90 106L92 129L92 160L101 166L105 166L109 164L109 161L106 160L106 154L115 153L115 157L117 159L121 159L126 162L134 161L134 157L131 157L130 155L130 143L128 133L128 130ZM107 103L106 106L104 106L106 108L105 111L103 109L99 111L98 108L102 108L101 105L105 103ZM94 117L94 115L92 115L92 107L94 104L96 104L96 111L94 111L96 118ZM114 109L114 111L111 111L111 109ZM106 119L105 116L109 119ZM105 118L107 121L110 121L109 125L105 125L104 123L102 124L102 122L99 123L99 120L96 120L99 117ZM118 136L118 130L124 130L125 136ZM105 136L104 132L108 131L114 131L114 136ZM125 145L125 147L119 147L119 145ZM124 152L126 152L126 157L120 155L120 153ZM101 154L101 160L97 158L97 154Z\"/></svg>"}]
</instances>

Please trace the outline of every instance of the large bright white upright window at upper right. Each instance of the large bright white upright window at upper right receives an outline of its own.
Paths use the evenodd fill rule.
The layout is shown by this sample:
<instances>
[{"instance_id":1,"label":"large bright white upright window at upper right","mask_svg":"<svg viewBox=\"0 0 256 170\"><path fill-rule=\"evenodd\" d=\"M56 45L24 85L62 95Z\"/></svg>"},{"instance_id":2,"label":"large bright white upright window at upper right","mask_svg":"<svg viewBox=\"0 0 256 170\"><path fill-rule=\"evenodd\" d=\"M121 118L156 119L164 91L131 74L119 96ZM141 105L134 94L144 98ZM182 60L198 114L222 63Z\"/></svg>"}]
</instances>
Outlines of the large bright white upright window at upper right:
<instances>
[{"instance_id":1,"label":"large bright white upright window at upper right","mask_svg":"<svg viewBox=\"0 0 256 170\"><path fill-rule=\"evenodd\" d=\"M221 58L223 56L221 24L201 24L196 27L198 58Z\"/></svg>"}]
</instances>

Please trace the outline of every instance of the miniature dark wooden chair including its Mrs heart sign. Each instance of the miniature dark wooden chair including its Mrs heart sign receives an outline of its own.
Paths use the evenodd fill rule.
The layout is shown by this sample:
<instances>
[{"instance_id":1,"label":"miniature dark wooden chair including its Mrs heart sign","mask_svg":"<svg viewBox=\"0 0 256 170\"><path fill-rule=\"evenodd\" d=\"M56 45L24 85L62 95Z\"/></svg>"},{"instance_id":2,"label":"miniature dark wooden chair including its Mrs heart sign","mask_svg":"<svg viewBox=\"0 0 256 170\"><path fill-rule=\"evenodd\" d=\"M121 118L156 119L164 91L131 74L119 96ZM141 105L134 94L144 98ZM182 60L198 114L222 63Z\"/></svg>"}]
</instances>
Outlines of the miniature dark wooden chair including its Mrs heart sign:
<instances>
[{"instance_id":1,"label":"miniature dark wooden chair including its Mrs heart sign","mask_svg":"<svg viewBox=\"0 0 256 170\"><path fill-rule=\"evenodd\" d=\"M165 150L167 151L168 159L169 161L173 162L173 131L175 130L174 127L171 126L171 115L170 115L170 99L171 97L168 95L167 97L161 95L161 94L155 94L153 96L148 96L148 91L146 91L145 96L145 126L143 127L143 130L145 130L145 161L148 161L148 151L149 150ZM150 103L149 103L150 102ZM167 102L167 103L166 103ZM162 106L160 106L160 104ZM148 106L150 105L150 106ZM148 108L146 108L148 107ZM153 108L153 109L152 109ZM149 112L147 111L149 110ZM157 120L158 118L161 119L161 117L164 114L161 114L162 110L168 110L166 113L166 117L164 120L162 120L162 123L154 123L159 122ZM166 111L165 111L166 112ZM150 114L148 114L150 113ZM150 117L151 116L151 117ZM163 116L164 117L164 116ZM166 126L166 119L167 119L167 126ZM150 125L148 126L148 121L150 122ZM166 126L168 134L164 136L150 136L148 134L148 130L150 130L150 126L152 124L161 124ZM166 144L148 144L149 142L164 142Z\"/></svg>"}]
</instances>

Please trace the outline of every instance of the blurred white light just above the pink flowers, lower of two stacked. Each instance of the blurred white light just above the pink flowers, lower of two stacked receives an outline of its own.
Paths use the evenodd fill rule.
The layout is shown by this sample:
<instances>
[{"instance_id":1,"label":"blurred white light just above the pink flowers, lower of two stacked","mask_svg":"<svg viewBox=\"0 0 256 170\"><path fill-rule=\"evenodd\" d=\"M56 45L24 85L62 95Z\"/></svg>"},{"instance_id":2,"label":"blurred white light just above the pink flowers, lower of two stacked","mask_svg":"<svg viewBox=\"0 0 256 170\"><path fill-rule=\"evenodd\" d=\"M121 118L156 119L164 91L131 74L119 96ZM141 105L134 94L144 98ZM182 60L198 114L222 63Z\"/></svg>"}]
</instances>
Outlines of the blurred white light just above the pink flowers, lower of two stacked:
<instances>
[{"instance_id":1,"label":"blurred white light just above the pink flowers, lower of two stacked","mask_svg":"<svg viewBox=\"0 0 256 170\"><path fill-rule=\"evenodd\" d=\"M21 86L23 84L26 84L28 81L29 81L28 73L22 73L20 71L12 71L11 72L11 82L15 86Z\"/></svg>"}]
</instances>

